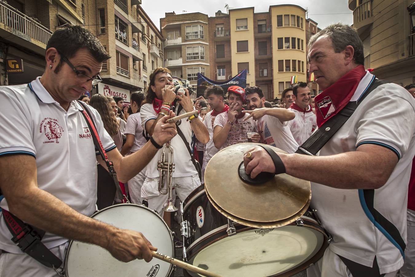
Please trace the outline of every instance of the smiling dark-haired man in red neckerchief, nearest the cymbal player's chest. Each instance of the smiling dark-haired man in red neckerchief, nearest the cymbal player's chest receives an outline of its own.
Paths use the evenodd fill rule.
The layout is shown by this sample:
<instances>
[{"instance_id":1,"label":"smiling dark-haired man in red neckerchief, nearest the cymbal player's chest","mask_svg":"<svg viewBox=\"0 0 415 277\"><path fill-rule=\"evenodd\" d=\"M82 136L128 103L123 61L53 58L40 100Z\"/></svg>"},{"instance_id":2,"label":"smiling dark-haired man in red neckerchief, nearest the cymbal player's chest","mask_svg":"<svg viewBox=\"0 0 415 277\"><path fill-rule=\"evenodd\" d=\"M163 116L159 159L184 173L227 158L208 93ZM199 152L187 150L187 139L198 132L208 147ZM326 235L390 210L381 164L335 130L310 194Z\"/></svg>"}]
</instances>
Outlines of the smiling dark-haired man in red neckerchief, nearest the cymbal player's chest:
<instances>
[{"instance_id":1,"label":"smiling dark-haired man in red neckerchief, nearest the cymbal player's chest","mask_svg":"<svg viewBox=\"0 0 415 277\"><path fill-rule=\"evenodd\" d=\"M311 92L307 83L298 82L293 86L293 100L288 110L295 113L295 118L288 121L288 127L298 145L302 145L317 127L315 114L310 106Z\"/></svg>"}]
</instances>

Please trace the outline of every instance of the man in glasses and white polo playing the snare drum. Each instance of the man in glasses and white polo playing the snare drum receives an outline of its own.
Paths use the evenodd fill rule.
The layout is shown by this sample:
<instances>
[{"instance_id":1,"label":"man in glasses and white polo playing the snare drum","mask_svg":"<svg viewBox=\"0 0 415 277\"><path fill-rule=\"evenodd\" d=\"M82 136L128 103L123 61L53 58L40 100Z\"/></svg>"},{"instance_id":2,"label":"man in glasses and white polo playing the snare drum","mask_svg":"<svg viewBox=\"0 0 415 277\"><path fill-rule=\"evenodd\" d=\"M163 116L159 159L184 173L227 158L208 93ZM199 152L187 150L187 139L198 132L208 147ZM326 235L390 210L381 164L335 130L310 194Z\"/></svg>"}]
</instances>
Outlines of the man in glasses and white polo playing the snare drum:
<instances>
[{"instance_id":1,"label":"man in glasses and white polo playing the snare drum","mask_svg":"<svg viewBox=\"0 0 415 277\"><path fill-rule=\"evenodd\" d=\"M58 29L49 39L45 56L41 77L27 85L0 87L1 208L45 230L42 243L61 260L68 239L73 239L99 245L124 262L150 261L150 250L156 248L142 233L89 218L97 197L96 162L106 164L95 155L81 111L88 108L92 115L121 182L139 173L156 154L156 146L176 135L174 123L165 123L173 113L155 126L152 142L122 157L98 112L75 101L101 81L101 66L110 58L98 39L81 26ZM52 268L23 253L10 240L12 236L1 214L0 276L57 276Z\"/></svg>"}]
</instances>

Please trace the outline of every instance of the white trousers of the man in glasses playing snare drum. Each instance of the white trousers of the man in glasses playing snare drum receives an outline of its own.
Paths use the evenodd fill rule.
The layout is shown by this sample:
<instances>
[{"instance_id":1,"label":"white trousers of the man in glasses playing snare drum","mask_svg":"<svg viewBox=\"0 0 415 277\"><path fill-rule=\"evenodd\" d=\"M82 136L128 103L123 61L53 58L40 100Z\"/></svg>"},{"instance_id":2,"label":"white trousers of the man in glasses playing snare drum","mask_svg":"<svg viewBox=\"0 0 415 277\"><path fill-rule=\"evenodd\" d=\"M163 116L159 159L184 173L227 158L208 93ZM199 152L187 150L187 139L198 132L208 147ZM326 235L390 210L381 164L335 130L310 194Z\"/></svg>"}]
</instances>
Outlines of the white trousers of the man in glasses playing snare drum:
<instances>
[{"instance_id":1,"label":"white trousers of the man in glasses playing snare drum","mask_svg":"<svg viewBox=\"0 0 415 277\"><path fill-rule=\"evenodd\" d=\"M63 243L50 250L62 261L65 260L69 243ZM61 265L63 267L63 263ZM40 262L26 253L13 254L2 253L0 255L0 277L59 277L51 268L45 267Z\"/></svg>"}]
</instances>

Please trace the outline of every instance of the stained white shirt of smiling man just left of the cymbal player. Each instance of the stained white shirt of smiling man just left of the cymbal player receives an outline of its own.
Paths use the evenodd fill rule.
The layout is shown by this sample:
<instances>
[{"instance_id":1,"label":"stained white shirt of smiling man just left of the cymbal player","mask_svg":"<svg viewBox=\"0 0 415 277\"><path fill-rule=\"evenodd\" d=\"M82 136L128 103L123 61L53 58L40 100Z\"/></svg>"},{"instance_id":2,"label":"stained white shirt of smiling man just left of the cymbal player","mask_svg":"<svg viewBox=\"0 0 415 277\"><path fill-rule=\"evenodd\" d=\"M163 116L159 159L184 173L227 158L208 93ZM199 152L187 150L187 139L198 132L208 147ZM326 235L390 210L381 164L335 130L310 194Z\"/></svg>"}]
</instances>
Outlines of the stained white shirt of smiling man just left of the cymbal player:
<instances>
[{"instance_id":1,"label":"stained white shirt of smiling man just left of the cymbal player","mask_svg":"<svg viewBox=\"0 0 415 277\"><path fill-rule=\"evenodd\" d=\"M307 110L310 109L310 106L307 107ZM293 108L288 108L295 113L295 118L288 121L288 127L293 134L295 141L298 145L302 145L312 134L314 129L317 127L317 119L315 114L312 112L300 112Z\"/></svg>"}]
</instances>

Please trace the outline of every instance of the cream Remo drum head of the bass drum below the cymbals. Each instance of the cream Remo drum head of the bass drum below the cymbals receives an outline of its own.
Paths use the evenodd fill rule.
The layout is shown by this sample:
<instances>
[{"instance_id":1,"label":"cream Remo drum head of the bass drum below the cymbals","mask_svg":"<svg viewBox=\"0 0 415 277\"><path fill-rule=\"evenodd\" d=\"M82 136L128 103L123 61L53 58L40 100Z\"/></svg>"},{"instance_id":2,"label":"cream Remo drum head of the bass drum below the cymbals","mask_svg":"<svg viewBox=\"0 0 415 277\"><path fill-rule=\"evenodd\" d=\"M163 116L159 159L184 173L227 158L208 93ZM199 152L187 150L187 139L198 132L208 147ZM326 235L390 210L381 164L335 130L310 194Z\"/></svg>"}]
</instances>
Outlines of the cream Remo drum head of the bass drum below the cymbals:
<instances>
[{"instance_id":1,"label":"cream Remo drum head of the bass drum below the cymbals","mask_svg":"<svg viewBox=\"0 0 415 277\"><path fill-rule=\"evenodd\" d=\"M288 225L252 229L215 241L190 263L223 277L278 276L310 260L324 244L325 235L315 228Z\"/></svg>"}]
</instances>

